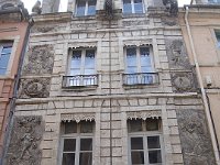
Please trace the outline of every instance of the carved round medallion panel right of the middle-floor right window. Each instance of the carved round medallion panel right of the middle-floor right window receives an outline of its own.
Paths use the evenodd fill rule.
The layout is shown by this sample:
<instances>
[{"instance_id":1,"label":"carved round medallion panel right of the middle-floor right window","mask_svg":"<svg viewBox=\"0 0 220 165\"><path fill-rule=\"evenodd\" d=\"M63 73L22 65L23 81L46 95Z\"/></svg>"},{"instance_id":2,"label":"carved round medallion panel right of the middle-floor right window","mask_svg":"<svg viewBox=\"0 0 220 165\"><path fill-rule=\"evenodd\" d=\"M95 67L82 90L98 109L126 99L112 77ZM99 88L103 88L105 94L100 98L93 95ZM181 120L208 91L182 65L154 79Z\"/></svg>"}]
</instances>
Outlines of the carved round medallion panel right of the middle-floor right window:
<instances>
[{"instance_id":1,"label":"carved round medallion panel right of the middle-floor right window","mask_svg":"<svg viewBox=\"0 0 220 165\"><path fill-rule=\"evenodd\" d=\"M195 89L195 81L191 73L172 74L172 84L177 91L191 91Z\"/></svg>"}]
</instances>

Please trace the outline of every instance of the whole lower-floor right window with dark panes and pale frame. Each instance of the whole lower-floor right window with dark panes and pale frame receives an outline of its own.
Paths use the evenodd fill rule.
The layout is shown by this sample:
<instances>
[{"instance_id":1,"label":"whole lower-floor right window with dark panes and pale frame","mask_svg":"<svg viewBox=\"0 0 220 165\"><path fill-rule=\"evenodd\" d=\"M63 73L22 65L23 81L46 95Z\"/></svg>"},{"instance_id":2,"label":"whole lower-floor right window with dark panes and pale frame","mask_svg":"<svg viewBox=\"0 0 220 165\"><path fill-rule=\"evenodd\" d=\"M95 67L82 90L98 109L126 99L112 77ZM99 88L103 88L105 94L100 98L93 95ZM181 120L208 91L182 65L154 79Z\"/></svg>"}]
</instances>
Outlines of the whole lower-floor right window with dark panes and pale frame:
<instances>
[{"instance_id":1,"label":"whole lower-floor right window with dark panes and pale frame","mask_svg":"<svg viewBox=\"0 0 220 165\"><path fill-rule=\"evenodd\" d=\"M128 120L131 165L162 165L161 120Z\"/></svg>"}]
</instances>

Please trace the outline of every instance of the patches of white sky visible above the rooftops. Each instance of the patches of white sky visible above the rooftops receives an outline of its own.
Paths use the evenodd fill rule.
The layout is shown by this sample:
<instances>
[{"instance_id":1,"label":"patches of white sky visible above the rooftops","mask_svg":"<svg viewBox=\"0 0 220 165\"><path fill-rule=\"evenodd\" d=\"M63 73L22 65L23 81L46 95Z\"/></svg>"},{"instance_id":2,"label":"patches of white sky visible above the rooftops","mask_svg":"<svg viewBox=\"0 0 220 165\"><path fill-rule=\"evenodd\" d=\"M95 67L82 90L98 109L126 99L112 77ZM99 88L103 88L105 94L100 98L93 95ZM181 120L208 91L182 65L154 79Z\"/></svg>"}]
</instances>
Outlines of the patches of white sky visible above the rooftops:
<instances>
[{"instance_id":1,"label":"patches of white sky visible above the rooftops","mask_svg":"<svg viewBox=\"0 0 220 165\"><path fill-rule=\"evenodd\" d=\"M24 2L24 7L29 10L29 13L31 13L32 7L35 4L37 0L22 0ZM42 1L42 0L41 0ZM62 3L59 6L59 11L67 11L67 2L68 0L61 0ZM189 4L190 0L178 0L179 7L183 7L184 4Z\"/></svg>"}]
</instances>

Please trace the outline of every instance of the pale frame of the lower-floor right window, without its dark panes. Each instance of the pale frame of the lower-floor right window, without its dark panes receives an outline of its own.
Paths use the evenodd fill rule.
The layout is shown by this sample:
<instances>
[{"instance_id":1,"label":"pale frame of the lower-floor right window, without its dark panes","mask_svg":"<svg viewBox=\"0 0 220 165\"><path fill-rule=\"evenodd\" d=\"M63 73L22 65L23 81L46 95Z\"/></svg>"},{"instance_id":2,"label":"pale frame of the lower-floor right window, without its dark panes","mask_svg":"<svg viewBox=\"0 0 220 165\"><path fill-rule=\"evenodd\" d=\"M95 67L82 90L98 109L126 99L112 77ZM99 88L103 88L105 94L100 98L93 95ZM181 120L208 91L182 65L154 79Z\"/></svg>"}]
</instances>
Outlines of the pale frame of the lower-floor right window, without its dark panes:
<instances>
[{"instance_id":1,"label":"pale frame of the lower-floor right window, without its dark panes","mask_svg":"<svg viewBox=\"0 0 220 165\"><path fill-rule=\"evenodd\" d=\"M147 120L147 119L146 119ZM161 121L162 122L162 121ZM161 123L160 122L160 123ZM158 124L160 124L158 123ZM129 128L129 125L128 125ZM163 134L162 134L162 125L158 125L158 131L146 131L146 122L144 120L142 120L142 130L143 131L139 131L139 132L129 132L129 164L132 165L132 156L131 156L131 139L132 138L142 138L143 139L143 152L144 152L144 163L143 165L163 165L164 164L164 143L163 143ZM160 136L160 145L161 145L161 156L162 156L162 163L156 163L156 164L150 164L148 163L148 151L153 151L153 150L148 150L148 146L147 146L147 138L148 136ZM145 144L145 145L144 145ZM140 150L141 151L141 150Z\"/></svg>"}]
</instances>

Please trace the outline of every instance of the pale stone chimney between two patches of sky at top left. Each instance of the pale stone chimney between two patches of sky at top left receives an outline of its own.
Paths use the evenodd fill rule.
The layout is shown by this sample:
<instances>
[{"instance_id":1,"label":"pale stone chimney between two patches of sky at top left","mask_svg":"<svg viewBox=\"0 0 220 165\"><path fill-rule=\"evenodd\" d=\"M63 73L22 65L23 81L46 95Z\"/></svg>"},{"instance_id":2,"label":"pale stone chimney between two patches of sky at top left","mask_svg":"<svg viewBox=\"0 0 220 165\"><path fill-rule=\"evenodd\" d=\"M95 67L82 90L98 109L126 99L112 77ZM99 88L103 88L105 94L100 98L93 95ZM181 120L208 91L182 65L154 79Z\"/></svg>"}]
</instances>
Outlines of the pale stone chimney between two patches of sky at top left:
<instances>
[{"instance_id":1,"label":"pale stone chimney between two patches of sky at top left","mask_svg":"<svg viewBox=\"0 0 220 165\"><path fill-rule=\"evenodd\" d=\"M58 12L61 0L43 0L42 13Z\"/></svg>"}]
</instances>

